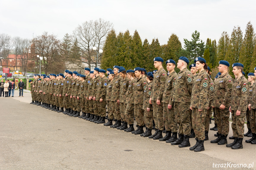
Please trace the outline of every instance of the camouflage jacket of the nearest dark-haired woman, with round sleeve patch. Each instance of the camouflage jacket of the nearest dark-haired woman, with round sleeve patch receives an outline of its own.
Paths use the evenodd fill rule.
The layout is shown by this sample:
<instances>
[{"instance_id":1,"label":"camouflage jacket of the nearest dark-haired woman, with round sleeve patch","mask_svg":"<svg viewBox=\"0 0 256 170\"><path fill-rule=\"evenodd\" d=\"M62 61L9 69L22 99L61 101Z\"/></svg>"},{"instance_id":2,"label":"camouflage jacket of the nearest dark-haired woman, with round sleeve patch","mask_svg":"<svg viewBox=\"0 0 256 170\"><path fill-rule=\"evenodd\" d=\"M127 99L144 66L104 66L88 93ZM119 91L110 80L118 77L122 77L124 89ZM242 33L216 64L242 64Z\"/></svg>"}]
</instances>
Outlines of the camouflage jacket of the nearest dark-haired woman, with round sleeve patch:
<instances>
[{"instance_id":1,"label":"camouflage jacket of the nearest dark-haired woman, with round sleeve patch","mask_svg":"<svg viewBox=\"0 0 256 170\"><path fill-rule=\"evenodd\" d=\"M198 109L208 108L210 99L210 82L210 76L205 70L197 73L193 80L190 107Z\"/></svg>"}]
</instances>

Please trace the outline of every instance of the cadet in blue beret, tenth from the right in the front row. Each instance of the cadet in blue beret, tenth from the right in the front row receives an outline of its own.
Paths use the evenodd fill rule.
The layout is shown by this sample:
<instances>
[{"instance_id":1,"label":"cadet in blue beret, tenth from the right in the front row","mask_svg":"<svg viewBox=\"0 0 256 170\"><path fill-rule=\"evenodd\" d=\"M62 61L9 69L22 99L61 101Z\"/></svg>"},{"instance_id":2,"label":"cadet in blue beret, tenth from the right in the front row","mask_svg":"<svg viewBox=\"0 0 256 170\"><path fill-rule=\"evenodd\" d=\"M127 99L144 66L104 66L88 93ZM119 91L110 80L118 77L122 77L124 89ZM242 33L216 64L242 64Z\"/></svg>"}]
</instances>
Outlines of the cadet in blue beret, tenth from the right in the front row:
<instances>
[{"instance_id":1,"label":"cadet in blue beret, tenth from the right in the front row","mask_svg":"<svg viewBox=\"0 0 256 170\"><path fill-rule=\"evenodd\" d=\"M104 126L111 126L113 125L112 121L114 119L113 110L111 107L111 91L112 91L112 84L114 80L115 74L114 72L108 72L108 79L109 84L106 91L106 102L107 102L107 108L108 108L108 122L103 124Z\"/></svg>"}]
</instances>

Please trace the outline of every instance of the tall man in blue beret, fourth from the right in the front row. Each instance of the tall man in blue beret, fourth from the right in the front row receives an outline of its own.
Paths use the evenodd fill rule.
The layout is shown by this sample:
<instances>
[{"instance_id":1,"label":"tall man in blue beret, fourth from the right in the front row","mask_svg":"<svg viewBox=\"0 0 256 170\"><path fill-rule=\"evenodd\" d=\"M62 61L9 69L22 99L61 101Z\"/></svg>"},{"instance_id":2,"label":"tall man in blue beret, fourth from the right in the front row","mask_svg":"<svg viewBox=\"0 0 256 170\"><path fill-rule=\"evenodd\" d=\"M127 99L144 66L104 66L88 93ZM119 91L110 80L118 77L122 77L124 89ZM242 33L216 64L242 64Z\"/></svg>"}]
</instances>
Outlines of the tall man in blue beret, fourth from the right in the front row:
<instances>
[{"instance_id":1,"label":"tall man in blue beret, fourth from the right in the front row","mask_svg":"<svg viewBox=\"0 0 256 170\"><path fill-rule=\"evenodd\" d=\"M163 137L162 132L164 128L163 124L163 91L165 86L165 80L167 78L167 72L163 69L163 59L161 57L154 58L154 66L158 69L155 72L153 85L152 85L152 93L149 99L149 103L152 104L153 107L153 117L157 118L155 121L156 131L155 134L149 136L149 138L160 139Z\"/></svg>"}]
</instances>

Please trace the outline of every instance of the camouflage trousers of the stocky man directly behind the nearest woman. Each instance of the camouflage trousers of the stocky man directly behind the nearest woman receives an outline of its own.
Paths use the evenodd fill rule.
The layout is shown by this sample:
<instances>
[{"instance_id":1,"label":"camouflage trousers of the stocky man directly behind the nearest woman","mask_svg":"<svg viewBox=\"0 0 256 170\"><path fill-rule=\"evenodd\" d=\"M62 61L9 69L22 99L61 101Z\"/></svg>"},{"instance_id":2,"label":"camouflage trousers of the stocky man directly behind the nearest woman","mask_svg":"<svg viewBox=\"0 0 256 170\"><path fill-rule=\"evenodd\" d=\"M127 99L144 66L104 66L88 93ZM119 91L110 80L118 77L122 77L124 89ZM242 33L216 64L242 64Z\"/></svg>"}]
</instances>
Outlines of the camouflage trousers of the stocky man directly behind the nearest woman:
<instances>
[{"instance_id":1,"label":"camouflage trousers of the stocky man directly behind the nearest woman","mask_svg":"<svg viewBox=\"0 0 256 170\"><path fill-rule=\"evenodd\" d=\"M179 134L190 135L190 103L174 102L174 114L177 124L179 125Z\"/></svg>"}]
</instances>

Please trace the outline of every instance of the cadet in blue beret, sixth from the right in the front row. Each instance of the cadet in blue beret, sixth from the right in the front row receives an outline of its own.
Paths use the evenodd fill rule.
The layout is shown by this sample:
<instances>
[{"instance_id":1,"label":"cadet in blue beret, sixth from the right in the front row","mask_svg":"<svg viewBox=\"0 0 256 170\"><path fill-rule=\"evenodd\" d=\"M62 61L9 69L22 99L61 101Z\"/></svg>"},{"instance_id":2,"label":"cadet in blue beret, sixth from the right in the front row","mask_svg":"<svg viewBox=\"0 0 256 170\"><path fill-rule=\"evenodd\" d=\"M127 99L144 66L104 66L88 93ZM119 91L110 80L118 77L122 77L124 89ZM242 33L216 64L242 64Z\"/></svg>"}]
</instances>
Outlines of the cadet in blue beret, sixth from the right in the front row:
<instances>
[{"instance_id":1,"label":"cadet in blue beret, sixth from the right in the front row","mask_svg":"<svg viewBox=\"0 0 256 170\"><path fill-rule=\"evenodd\" d=\"M134 117L137 122L138 129L133 131L135 135L139 135L144 132L144 112L143 112L143 92L144 86L146 85L145 79L142 77L142 69L140 67L136 67L134 69L134 74L137 77L137 80L133 86L133 93L134 93Z\"/></svg>"}]
</instances>

